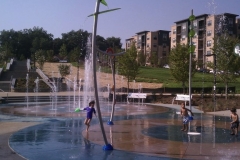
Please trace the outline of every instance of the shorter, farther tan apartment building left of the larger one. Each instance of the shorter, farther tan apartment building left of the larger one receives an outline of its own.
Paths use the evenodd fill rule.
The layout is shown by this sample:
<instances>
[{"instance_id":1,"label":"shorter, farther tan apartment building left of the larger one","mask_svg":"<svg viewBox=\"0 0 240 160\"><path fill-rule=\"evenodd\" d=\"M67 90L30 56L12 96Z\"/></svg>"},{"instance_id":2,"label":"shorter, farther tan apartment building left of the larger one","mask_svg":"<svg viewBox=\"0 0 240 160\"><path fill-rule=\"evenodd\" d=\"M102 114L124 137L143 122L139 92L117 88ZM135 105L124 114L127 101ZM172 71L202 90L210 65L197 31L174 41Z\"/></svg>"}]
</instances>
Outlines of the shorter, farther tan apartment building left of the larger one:
<instances>
[{"instance_id":1,"label":"shorter, farther tan apartment building left of the larger one","mask_svg":"<svg viewBox=\"0 0 240 160\"><path fill-rule=\"evenodd\" d=\"M164 65L170 52L170 31L141 31L126 39L126 50L135 43L138 53L146 55L146 64L149 64L151 54L156 53L160 65Z\"/></svg>"}]
</instances>

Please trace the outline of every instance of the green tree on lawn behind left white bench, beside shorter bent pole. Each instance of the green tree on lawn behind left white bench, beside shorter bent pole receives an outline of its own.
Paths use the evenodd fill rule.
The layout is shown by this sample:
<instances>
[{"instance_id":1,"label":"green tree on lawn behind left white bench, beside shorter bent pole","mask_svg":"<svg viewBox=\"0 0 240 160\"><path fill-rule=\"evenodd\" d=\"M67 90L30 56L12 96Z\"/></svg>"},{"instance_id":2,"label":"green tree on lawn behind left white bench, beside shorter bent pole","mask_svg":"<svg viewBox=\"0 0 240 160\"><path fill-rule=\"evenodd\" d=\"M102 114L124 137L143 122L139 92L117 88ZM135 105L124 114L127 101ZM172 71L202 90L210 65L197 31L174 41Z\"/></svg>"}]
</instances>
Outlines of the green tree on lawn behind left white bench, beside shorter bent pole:
<instances>
[{"instance_id":1,"label":"green tree on lawn behind left white bench, beside shorter bent pole","mask_svg":"<svg viewBox=\"0 0 240 160\"><path fill-rule=\"evenodd\" d=\"M129 82L136 79L136 76L139 73L139 64L137 62L137 49L135 44L132 44L131 47L126 51L125 54L118 57L118 71L119 74L127 78L128 89Z\"/></svg>"}]
</instances>

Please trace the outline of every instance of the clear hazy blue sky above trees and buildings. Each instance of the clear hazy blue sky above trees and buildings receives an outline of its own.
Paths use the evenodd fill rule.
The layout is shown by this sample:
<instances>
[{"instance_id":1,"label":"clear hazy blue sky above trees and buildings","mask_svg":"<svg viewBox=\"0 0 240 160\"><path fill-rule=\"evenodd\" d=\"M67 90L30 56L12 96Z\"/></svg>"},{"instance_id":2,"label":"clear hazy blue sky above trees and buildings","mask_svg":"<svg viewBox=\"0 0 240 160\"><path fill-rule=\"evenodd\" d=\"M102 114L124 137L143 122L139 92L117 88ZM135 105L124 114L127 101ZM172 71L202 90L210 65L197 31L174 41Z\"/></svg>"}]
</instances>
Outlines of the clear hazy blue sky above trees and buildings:
<instances>
[{"instance_id":1,"label":"clear hazy blue sky above trees and buildings","mask_svg":"<svg viewBox=\"0 0 240 160\"><path fill-rule=\"evenodd\" d=\"M123 43L137 32L171 30L174 22L191 14L233 13L240 15L240 0L105 0L99 15L97 34L120 37ZM96 0L0 0L0 31L42 27L54 38L71 30L92 32ZM239 16L238 16L239 17Z\"/></svg>"}]
</instances>

